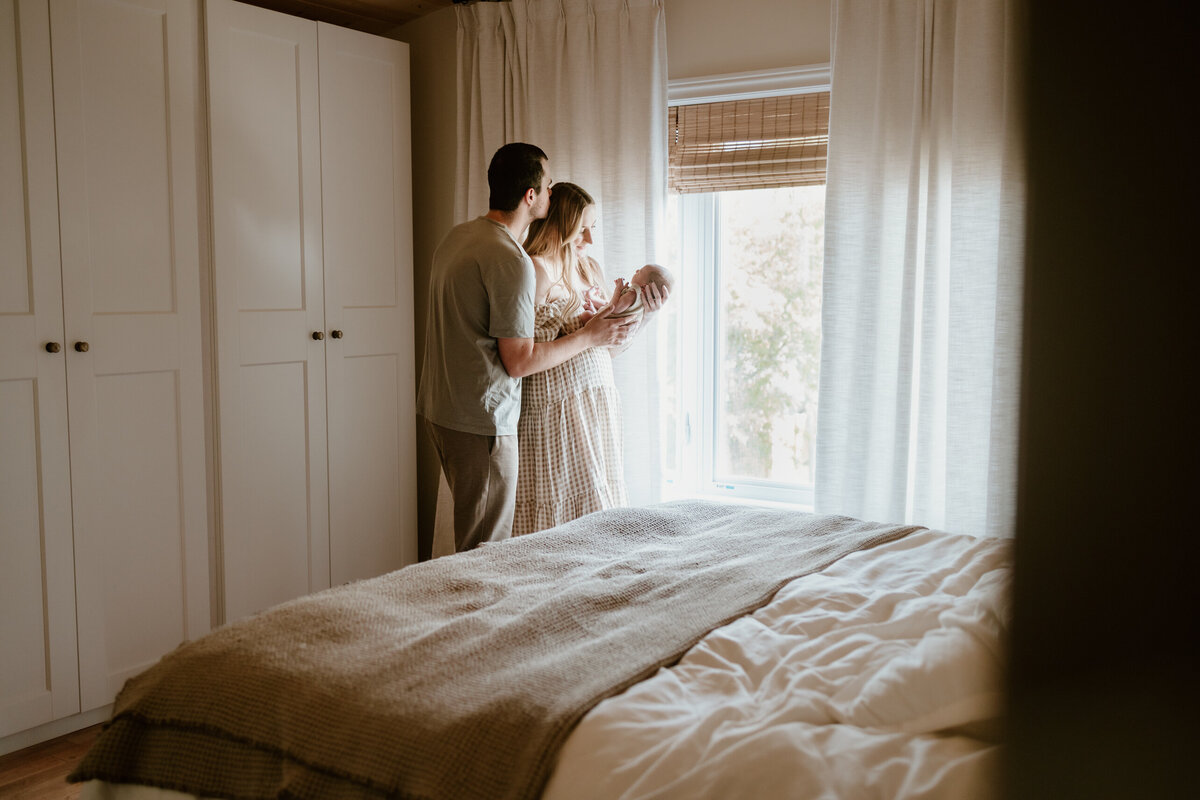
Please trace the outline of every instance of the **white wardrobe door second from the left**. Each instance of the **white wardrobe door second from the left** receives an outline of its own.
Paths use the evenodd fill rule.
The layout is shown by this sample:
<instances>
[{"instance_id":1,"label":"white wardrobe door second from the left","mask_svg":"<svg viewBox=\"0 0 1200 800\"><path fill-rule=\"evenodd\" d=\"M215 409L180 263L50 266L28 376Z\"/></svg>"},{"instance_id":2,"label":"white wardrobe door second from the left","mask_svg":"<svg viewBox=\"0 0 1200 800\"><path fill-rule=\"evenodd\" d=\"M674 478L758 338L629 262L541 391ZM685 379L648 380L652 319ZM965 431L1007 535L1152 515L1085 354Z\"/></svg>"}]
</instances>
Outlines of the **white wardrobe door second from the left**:
<instances>
[{"instance_id":1,"label":"white wardrobe door second from the left","mask_svg":"<svg viewBox=\"0 0 1200 800\"><path fill-rule=\"evenodd\" d=\"M54 0L83 710L209 630L196 0Z\"/></svg>"}]
</instances>

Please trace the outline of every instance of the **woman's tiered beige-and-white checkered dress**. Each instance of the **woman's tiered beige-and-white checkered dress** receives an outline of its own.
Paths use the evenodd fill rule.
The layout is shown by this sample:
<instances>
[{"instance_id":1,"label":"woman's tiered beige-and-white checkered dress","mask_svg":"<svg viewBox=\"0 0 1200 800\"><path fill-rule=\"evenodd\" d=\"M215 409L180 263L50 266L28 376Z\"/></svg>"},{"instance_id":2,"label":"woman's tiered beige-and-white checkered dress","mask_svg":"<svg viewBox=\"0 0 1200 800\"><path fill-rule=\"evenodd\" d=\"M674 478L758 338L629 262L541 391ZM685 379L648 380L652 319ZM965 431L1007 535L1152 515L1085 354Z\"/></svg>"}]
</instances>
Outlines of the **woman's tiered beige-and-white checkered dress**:
<instances>
[{"instance_id":1,"label":"woman's tiered beige-and-white checkered dress","mask_svg":"<svg viewBox=\"0 0 1200 800\"><path fill-rule=\"evenodd\" d=\"M563 319L565 306L565 299L538 306L535 342L582 325L577 315ZM523 378L517 441L514 536L625 505L620 396L608 350L590 348Z\"/></svg>"}]
</instances>

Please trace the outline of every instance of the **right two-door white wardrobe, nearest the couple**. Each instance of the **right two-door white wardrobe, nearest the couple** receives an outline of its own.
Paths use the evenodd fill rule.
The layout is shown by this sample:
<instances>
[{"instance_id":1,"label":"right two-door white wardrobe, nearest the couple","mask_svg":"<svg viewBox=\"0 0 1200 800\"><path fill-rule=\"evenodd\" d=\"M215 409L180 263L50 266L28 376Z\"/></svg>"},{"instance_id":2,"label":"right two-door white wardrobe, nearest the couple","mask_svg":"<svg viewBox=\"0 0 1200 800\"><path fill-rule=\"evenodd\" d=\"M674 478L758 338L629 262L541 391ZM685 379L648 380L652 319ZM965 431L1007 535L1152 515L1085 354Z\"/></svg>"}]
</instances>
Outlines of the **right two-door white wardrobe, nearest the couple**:
<instances>
[{"instance_id":1,"label":"right two-door white wardrobe, nearest the couple","mask_svg":"<svg viewBox=\"0 0 1200 800\"><path fill-rule=\"evenodd\" d=\"M208 44L233 620L416 560L408 46L233 0Z\"/></svg>"}]
</instances>

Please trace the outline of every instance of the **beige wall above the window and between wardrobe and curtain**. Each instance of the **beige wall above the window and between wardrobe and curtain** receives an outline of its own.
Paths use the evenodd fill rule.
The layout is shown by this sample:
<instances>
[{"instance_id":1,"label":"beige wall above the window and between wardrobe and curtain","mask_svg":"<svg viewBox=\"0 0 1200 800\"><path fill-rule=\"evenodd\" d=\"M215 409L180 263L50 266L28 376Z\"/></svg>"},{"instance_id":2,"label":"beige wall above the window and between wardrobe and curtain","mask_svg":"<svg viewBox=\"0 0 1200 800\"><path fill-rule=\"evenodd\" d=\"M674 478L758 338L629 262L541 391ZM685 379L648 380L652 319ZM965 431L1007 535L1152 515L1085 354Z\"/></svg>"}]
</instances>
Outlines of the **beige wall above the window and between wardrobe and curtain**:
<instances>
[{"instance_id":1,"label":"beige wall above the window and between wardrobe and curtain","mask_svg":"<svg viewBox=\"0 0 1200 800\"><path fill-rule=\"evenodd\" d=\"M829 0L665 0L667 76L700 78L829 61ZM413 241L416 368L433 249L454 219L457 91L455 10L398 28L412 47ZM482 213L486 209L479 209ZM418 435L420 553L427 555L437 504L437 457Z\"/></svg>"}]
</instances>

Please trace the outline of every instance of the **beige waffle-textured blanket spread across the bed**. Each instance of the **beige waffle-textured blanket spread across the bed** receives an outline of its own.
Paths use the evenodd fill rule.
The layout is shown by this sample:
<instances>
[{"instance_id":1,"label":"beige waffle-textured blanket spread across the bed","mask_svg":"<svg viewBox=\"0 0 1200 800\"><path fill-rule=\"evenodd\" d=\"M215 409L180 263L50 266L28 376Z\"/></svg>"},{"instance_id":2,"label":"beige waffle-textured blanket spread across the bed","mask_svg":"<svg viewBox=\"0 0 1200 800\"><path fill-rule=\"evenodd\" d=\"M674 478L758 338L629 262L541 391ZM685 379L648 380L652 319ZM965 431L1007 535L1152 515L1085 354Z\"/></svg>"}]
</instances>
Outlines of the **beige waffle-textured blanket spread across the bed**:
<instances>
[{"instance_id":1,"label":"beige waffle-textured blanket spread across the bed","mask_svg":"<svg viewBox=\"0 0 1200 800\"><path fill-rule=\"evenodd\" d=\"M618 509L302 597L131 679L72 774L220 798L536 798L605 697L912 527Z\"/></svg>"}]
</instances>

